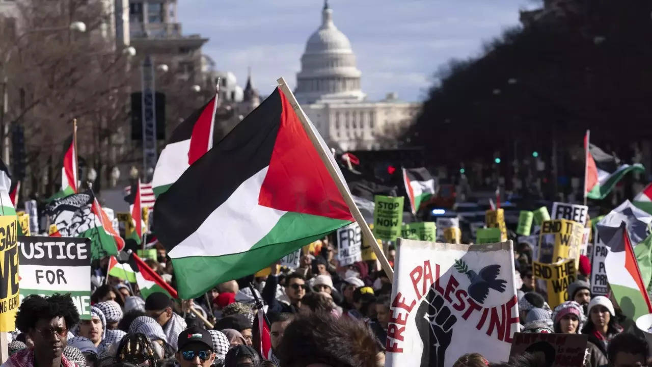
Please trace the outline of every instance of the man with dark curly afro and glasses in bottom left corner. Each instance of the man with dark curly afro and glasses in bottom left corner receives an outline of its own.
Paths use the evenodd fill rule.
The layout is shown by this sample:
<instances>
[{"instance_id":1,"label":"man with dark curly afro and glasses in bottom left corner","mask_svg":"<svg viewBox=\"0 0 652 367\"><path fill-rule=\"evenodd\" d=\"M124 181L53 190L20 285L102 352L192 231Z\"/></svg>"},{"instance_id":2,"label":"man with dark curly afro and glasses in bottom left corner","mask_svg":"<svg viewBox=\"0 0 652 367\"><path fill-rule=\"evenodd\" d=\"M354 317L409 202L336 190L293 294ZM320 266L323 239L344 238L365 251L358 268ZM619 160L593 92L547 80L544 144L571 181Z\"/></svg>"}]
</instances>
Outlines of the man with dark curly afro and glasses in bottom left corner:
<instances>
[{"instance_id":1,"label":"man with dark curly afro and glasses in bottom left corner","mask_svg":"<svg viewBox=\"0 0 652 367\"><path fill-rule=\"evenodd\" d=\"M34 342L33 349L22 349L1 367L78 367L63 355L68 330L80 321L70 295L25 297L16 313L16 327Z\"/></svg>"}]
</instances>

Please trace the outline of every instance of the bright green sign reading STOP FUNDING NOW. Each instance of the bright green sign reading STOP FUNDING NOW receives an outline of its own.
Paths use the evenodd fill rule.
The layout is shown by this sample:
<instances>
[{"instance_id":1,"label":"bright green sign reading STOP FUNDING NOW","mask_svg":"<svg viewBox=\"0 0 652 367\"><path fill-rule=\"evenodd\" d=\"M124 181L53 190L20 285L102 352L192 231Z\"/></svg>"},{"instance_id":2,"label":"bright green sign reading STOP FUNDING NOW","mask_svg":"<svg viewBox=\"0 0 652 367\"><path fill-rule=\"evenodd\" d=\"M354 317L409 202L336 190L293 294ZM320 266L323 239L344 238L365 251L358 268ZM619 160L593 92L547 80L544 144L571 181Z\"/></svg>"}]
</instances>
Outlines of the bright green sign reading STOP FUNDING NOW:
<instances>
[{"instance_id":1,"label":"bright green sign reading STOP FUNDING NOW","mask_svg":"<svg viewBox=\"0 0 652 367\"><path fill-rule=\"evenodd\" d=\"M403 225L403 197L374 196L374 234L384 241L394 241Z\"/></svg>"}]
</instances>

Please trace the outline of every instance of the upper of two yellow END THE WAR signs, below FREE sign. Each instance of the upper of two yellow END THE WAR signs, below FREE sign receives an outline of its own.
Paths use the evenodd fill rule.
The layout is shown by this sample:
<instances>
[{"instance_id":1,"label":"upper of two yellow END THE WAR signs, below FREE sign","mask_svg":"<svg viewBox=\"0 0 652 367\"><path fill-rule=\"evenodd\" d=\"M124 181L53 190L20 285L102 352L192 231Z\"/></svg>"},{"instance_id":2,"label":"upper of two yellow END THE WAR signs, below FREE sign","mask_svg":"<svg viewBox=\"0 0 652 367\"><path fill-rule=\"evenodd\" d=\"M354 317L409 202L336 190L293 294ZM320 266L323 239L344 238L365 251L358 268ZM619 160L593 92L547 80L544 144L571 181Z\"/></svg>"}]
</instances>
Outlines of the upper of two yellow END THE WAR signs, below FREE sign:
<instances>
[{"instance_id":1,"label":"upper of two yellow END THE WAR signs, below FREE sign","mask_svg":"<svg viewBox=\"0 0 652 367\"><path fill-rule=\"evenodd\" d=\"M544 221L539 234L539 262L552 264L562 259L574 259L575 268L578 268L583 235L584 226L576 221Z\"/></svg>"}]
</instances>

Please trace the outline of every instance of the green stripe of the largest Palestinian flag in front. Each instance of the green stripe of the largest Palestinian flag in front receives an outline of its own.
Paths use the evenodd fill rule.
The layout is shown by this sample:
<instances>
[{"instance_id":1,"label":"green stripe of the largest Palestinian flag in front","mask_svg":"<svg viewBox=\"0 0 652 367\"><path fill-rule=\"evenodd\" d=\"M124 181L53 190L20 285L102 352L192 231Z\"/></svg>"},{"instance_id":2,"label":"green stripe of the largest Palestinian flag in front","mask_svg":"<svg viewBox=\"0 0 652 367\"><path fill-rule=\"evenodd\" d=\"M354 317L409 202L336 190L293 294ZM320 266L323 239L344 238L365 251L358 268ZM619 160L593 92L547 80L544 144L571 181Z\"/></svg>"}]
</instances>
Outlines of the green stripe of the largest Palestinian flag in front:
<instances>
[{"instance_id":1,"label":"green stripe of the largest Palestinian flag in front","mask_svg":"<svg viewBox=\"0 0 652 367\"><path fill-rule=\"evenodd\" d=\"M179 298L195 298L217 283L254 274L288 253L350 223L319 215L288 212L248 251L211 257L173 258Z\"/></svg>"}]
</instances>

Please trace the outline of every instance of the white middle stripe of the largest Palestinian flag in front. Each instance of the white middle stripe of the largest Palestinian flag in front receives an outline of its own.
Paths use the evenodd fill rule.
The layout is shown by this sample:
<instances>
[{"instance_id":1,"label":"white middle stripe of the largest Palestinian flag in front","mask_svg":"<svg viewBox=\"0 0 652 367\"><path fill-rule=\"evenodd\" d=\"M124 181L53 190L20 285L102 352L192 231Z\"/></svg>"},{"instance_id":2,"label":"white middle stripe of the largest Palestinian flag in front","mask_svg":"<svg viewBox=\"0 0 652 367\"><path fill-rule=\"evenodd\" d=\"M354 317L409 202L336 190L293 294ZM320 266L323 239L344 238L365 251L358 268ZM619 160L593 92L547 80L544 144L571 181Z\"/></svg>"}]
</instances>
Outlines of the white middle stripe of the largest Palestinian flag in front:
<instances>
[{"instance_id":1,"label":"white middle stripe of the largest Palestinian flag in front","mask_svg":"<svg viewBox=\"0 0 652 367\"><path fill-rule=\"evenodd\" d=\"M267 236L285 212L258 205L260 188L267 174L265 167L233 191L193 234L175 246L168 255L220 256L241 253Z\"/></svg>"}]
</instances>

